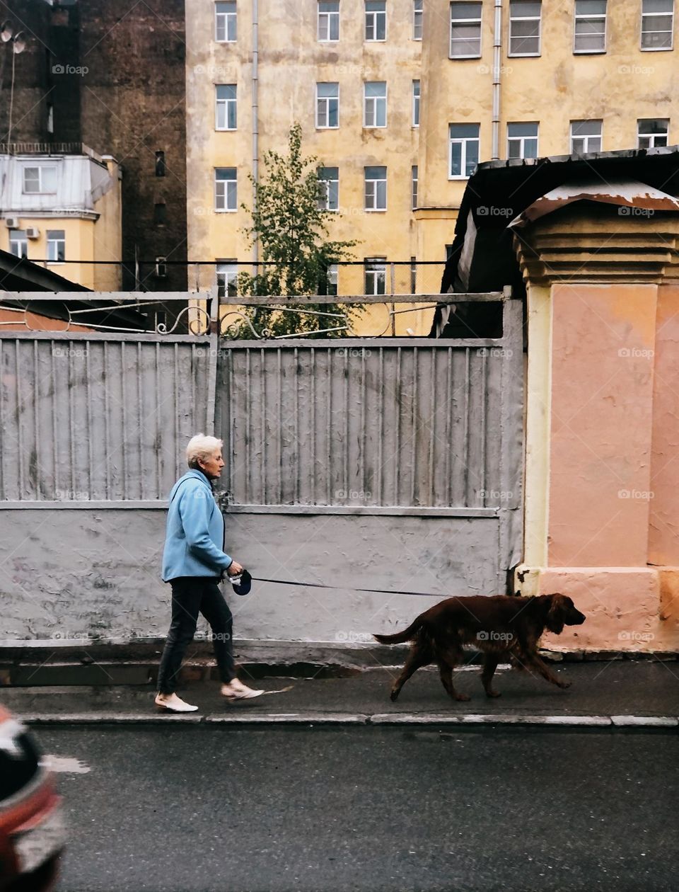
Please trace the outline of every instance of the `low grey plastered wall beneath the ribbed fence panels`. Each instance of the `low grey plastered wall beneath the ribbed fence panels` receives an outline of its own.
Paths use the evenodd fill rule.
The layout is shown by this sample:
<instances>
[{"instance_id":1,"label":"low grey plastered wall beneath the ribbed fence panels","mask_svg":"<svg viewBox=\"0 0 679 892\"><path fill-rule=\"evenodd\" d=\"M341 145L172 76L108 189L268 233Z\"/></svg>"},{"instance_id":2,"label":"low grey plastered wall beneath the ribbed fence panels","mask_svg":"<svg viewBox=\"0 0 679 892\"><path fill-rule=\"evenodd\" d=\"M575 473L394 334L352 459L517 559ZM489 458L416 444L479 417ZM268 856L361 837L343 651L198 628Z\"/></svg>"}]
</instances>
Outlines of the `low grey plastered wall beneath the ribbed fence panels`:
<instances>
[{"instance_id":1,"label":"low grey plastered wall beneath the ribbed fence panels","mask_svg":"<svg viewBox=\"0 0 679 892\"><path fill-rule=\"evenodd\" d=\"M0 512L0 646L163 638L170 599L169 585L160 581L165 521L164 508ZM443 597L497 591L493 517L227 515L225 521L226 549L252 574L348 586L256 582L245 598L226 591L237 638L366 641ZM436 594L392 597L350 591L355 586Z\"/></svg>"}]
</instances>

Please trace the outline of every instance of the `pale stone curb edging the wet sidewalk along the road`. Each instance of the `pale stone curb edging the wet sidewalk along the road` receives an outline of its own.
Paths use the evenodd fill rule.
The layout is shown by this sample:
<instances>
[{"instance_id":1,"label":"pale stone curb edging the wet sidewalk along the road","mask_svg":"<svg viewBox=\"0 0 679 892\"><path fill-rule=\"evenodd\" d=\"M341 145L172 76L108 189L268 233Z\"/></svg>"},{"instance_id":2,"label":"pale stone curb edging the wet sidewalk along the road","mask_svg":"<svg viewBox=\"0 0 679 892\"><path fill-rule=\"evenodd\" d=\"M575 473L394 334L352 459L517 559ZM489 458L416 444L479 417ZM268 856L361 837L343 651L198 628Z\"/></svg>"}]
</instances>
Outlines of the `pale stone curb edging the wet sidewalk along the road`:
<instances>
[{"instance_id":1,"label":"pale stone curb edging the wet sidewalk along the road","mask_svg":"<svg viewBox=\"0 0 679 892\"><path fill-rule=\"evenodd\" d=\"M356 713L270 713L234 714L150 714L97 713L17 714L29 725L82 724L235 724L235 725L547 725L563 728L676 728L679 718L674 715L512 715L512 714L356 714Z\"/></svg>"}]
</instances>

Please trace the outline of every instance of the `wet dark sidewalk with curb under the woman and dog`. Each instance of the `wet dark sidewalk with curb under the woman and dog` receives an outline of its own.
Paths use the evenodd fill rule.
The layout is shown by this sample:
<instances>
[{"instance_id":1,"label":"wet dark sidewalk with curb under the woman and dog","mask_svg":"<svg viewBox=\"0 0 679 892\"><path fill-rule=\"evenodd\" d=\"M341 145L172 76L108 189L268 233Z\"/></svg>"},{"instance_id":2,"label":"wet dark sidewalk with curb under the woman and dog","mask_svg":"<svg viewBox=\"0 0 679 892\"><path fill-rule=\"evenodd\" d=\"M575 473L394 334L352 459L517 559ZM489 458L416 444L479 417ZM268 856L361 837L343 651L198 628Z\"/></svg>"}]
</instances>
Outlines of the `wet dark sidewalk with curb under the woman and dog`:
<instances>
[{"instance_id":1,"label":"wet dark sidewalk with curb under the woman and dog","mask_svg":"<svg viewBox=\"0 0 679 892\"><path fill-rule=\"evenodd\" d=\"M164 714L153 705L153 686L0 688L0 704L27 723L226 723L226 724L550 724L575 727L676 727L679 662L618 660L564 663L554 671L572 681L560 690L528 673L498 669L489 699L474 666L455 673L468 703L447 697L435 667L421 669L396 703L389 699L398 668L348 678L265 678L244 681L266 695L239 706L226 703L217 681L190 681L180 695L198 705L192 714Z\"/></svg>"}]
</instances>

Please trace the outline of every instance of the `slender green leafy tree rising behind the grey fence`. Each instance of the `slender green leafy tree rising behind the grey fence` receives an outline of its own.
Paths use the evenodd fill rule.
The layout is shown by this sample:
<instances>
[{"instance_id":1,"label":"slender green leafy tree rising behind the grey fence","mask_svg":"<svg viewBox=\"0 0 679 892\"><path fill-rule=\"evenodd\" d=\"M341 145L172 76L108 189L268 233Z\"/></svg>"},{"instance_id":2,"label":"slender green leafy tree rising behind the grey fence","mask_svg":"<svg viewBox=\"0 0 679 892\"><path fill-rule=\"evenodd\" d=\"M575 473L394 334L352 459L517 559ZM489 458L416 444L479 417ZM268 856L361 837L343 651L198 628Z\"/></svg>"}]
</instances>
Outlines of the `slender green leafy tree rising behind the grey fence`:
<instances>
[{"instance_id":1,"label":"slender green leafy tree rising behind the grey fence","mask_svg":"<svg viewBox=\"0 0 679 892\"><path fill-rule=\"evenodd\" d=\"M241 207L250 213L252 223L245 228L250 244L257 240L260 261L256 275L242 272L238 277L238 291L248 295L314 295L326 294L328 271L332 263L351 260L349 251L356 242L333 242L328 239L329 219L337 219L335 211L319 206L319 179L315 156L302 155L302 128L295 123L290 128L288 153L267 152L264 156L266 173L255 186L255 207ZM245 316L258 332L271 335L305 334L319 328L338 331L316 337L342 337L352 318L363 306L338 303L304 303L290 306L290 310L315 310L332 316L273 310L268 307L246 307ZM235 327L235 326L234 326ZM236 328L235 336L252 337L246 322Z\"/></svg>"}]
</instances>

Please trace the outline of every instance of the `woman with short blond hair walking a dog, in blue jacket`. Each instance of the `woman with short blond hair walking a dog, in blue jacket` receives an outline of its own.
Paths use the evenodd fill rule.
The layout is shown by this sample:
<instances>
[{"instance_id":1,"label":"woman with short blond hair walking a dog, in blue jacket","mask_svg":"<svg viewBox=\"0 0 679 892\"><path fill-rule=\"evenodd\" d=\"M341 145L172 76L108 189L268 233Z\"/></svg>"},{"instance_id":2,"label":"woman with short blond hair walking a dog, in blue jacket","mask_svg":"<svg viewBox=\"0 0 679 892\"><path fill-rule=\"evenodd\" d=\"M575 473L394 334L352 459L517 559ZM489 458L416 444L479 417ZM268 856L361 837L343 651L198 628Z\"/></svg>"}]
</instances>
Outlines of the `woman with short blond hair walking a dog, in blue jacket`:
<instances>
[{"instance_id":1,"label":"woman with short blond hair walking a dog, in blue jacket","mask_svg":"<svg viewBox=\"0 0 679 892\"><path fill-rule=\"evenodd\" d=\"M186 447L190 470L170 492L168 531L163 552L163 582L172 585L172 622L160 658L156 705L174 713L198 709L175 693L184 651L193 640L199 612L212 629L222 694L228 700L259 697L236 678L233 667L232 616L219 582L222 575L242 573L240 564L222 550L224 517L212 494L212 481L222 473L222 441L196 434Z\"/></svg>"}]
</instances>

